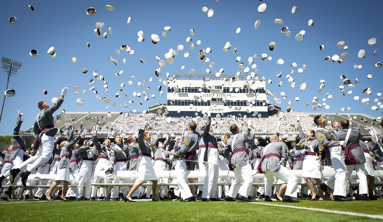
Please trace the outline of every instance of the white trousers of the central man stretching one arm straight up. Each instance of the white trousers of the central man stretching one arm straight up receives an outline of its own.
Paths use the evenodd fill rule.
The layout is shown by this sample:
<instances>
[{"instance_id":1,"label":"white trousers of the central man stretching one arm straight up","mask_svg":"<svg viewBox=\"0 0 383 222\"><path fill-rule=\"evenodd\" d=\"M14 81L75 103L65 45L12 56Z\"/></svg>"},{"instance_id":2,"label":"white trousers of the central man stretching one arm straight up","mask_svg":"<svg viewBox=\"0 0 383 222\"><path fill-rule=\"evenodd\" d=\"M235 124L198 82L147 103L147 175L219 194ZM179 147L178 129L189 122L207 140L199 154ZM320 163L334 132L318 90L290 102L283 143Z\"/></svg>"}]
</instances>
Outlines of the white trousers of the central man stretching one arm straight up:
<instances>
[{"instance_id":1,"label":"white trousers of the central man stretching one arm straight up","mask_svg":"<svg viewBox=\"0 0 383 222\"><path fill-rule=\"evenodd\" d=\"M208 162L218 163L218 150L210 147L208 156ZM217 183L219 166L217 164L205 164L206 165L206 177L205 183L203 184L202 198L216 198Z\"/></svg>"}]
</instances>

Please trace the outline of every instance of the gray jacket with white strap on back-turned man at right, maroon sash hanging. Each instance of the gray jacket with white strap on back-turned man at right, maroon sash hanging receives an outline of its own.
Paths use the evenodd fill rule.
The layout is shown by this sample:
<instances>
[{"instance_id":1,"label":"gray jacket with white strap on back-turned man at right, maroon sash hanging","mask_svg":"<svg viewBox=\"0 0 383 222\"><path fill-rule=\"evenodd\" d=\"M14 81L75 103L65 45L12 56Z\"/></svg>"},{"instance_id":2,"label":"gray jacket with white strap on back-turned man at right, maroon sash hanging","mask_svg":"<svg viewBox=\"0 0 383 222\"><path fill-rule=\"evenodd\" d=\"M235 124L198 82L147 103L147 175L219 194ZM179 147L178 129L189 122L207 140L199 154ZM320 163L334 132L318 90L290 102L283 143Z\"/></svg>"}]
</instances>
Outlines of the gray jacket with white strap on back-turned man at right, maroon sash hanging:
<instances>
[{"instance_id":1,"label":"gray jacket with white strap on back-turned man at right, maroon sash hanging","mask_svg":"<svg viewBox=\"0 0 383 222\"><path fill-rule=\"evenodd\" d=\"M337 135L336 140L341 141L346 139L347 131L349 129L342 129L337 131L335 134ZM358 147L351 149L352 156L355 158L356 162L354 164L363 164L366 162L366 158L364 156L362 147L359 145L359 140L360 140L360 131L356 127L351 128L350 136L349 139L347 140L347 143L345 144L345 148L347 146L355 146L357 145ZM352 157L351 157L352 158ZM346 164L347 165L347 164Z\"/></svg>"}]
</instances>

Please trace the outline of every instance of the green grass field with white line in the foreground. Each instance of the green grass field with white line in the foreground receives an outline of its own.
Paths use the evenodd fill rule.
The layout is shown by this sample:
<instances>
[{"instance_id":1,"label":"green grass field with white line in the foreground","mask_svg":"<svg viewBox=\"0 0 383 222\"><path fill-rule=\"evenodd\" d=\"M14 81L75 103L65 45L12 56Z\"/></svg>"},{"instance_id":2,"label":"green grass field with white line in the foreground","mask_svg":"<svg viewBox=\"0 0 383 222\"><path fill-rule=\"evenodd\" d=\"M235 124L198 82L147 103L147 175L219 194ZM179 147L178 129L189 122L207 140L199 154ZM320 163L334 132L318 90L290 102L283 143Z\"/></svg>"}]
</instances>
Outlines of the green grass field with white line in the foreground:
<instances>
[{"instance_id":1,"label":"green grass field with white line in the foreground","mask_svg":"<svg viewBox=\"0 0 383 222\"><path fill-rule=\"evenodd\" d=\"M260 201L259 203L266 203ZM383 216L383 201L272 202ZM180 201L124 203L123 201L0 201L0 221L378 221L304 209L236 202Z\"/></svg>"}]
</instances>

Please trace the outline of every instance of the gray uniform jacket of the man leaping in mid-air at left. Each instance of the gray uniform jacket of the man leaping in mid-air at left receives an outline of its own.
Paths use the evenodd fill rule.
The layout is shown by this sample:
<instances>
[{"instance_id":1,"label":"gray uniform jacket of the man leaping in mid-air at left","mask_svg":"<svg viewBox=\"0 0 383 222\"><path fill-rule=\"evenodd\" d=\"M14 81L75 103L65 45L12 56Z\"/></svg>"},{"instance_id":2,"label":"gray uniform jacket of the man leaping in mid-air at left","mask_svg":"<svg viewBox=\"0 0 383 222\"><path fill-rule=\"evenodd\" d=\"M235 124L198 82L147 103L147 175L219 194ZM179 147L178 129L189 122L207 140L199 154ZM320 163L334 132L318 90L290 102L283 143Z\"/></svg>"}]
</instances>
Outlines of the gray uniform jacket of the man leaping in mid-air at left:
<instances>
[{"instance_id":1,"label":"gray uniform jacket of the man leaping in mid-air at left","mask_svg":"<svg viewBox=\"0 0 383 222\"><path fill-rule=\"evenodd\" d=\"M34 134L38 135L39 131L43 127L47 126L54 126L53 121L53 113L60 108L62 102L64 102L63 99L57 99L57 102L54 104L53 107L49 109L42 109L40 110L39 114L36 116L35 122L34 122ZM54 134L57 133L57 128L53 127L51 130L45 131L45 134L47 136L54 136Z\"/></svg>"}]
</instances>

